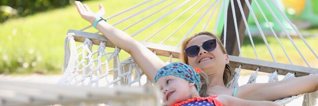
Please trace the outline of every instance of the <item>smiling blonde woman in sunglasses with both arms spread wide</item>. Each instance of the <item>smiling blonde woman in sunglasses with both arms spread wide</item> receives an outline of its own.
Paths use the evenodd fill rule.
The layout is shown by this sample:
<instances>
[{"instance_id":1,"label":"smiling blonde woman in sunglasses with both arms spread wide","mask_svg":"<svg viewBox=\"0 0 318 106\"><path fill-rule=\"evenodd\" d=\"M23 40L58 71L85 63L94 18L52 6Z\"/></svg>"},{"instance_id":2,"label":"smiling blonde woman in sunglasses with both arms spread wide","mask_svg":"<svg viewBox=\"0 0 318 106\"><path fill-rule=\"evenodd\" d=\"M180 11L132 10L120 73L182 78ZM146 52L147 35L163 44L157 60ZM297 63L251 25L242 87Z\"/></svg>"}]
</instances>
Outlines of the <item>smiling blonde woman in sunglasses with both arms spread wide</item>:
<instances>
[{"instance_id":1,"label":"smiling blonde woman in sunglasses with both arms spread wide","mask_svg":"<svg viewBox=\"0 0 318 106\"><path fill-rule=\"evenodd\" d=\"M131 38L127 33L103 21L100 18L100 13L104 14L102 5L99 6L100 12L93 13L87 5L83 5L80 2L75 2L75 4L83 19L93 24L112 43L130 53L145 75L151 82L154 82L157 70L165 65L164 61L141 43ZM215 43L215 48L211 49L210 47L207 49L203 47L205 42ZM196 47L199 47L199 51L193 51ZM217 37L208 32L198 33L184 41L182 50L185 51L181 56L183 62L193 67L199 67L208 74L210 82L207 91L208 95L226 94L247 100L276 100L317 90L318 75L312 75L273 83L246 84L238 87L236 89L237 93L233 94L235 89L225 87L228 82L227 73L230 72L230 68L227 65L229 64L229 57Z\"/></svg>"}]
</instances>

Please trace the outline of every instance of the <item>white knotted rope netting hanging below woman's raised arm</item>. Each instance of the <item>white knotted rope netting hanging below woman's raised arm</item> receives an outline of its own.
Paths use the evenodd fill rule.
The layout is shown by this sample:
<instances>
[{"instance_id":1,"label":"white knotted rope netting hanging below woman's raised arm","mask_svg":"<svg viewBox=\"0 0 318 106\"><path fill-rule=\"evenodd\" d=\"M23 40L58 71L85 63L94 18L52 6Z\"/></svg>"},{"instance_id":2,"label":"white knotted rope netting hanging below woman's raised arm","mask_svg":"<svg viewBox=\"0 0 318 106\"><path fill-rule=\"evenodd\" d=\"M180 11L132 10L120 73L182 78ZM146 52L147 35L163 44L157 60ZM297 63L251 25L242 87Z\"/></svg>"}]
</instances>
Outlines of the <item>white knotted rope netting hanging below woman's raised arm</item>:
<instances>
[{"instance_id":1,"label":"white knotted rope netting hanging below woman's raised arm","mask_svg":"<svg viewBox=\"0 0 318 106\"><path fill-rule=\"evenodd\" d=\"M106 43L101 42L98 49L92 51L92 42L87 38L79 46L76 46L73 36L67 36L65 41L64 66L66 67L63 68L65 72L58 84L113 88L142 86L150 83L146 77L142 78L144 74L132 57L120 61L118 56L120 49L117 47L114 51L109 52L105 49ZM113 61L112 66L110 65L111 61ZM126 98L125 100L109 99L99 103L109 105L131 105L130 103L134 105L155 105L156 101L159 100L158 94L157 96L141 99L136 99L136 96L135 98L131 96L131 99Z\"/></svg>"}]
</instances>

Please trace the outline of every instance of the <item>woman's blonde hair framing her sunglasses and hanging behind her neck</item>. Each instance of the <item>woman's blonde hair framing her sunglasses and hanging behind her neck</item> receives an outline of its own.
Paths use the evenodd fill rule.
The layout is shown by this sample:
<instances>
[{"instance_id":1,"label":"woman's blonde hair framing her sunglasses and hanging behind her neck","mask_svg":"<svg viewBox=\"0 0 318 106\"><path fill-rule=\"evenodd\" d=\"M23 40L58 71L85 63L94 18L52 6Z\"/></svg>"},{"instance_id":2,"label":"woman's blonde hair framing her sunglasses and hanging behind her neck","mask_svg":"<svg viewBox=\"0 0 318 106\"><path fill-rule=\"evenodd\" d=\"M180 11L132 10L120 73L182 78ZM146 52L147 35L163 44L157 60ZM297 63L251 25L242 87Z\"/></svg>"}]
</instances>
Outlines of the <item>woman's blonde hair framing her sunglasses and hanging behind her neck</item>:
<instances>
[{"instance_id":1,"label":"woman's blonde hair framing her sunglasses and hanging behind her neck","mask_svg":"<svg viewBox=\"0 0 318 106\"><path fill-rule=\"evenodd\" d=\"M211 32L208 32L208 31L203 31L203 32L196 33L194 36L185 39L182 42L181 51L183 51L186 48L186 45L190 42L190 40L192 40L193 38L196 38L198 36L201 36L201 35L207 35L207 36L210 36L210 37L213 37L214 39L216 39L217 44L221 48L221 51L224 54L227 54L227 50L225 49L224 45L220 42L218 37L216 37L214 34L212 34ZM182 62L184 62L186 64L189 64L188 63L188 58L187 58L187 55L185 54L185 52L181 52L180 53L180 58L181 58ZM231 77L231 67L228 64L226 64L225 65L225 69L224 69L224 73L223 73L223 82L224 82L224 84L227 84L229 82L230 77Z\"/></svg>"}]
</instances>

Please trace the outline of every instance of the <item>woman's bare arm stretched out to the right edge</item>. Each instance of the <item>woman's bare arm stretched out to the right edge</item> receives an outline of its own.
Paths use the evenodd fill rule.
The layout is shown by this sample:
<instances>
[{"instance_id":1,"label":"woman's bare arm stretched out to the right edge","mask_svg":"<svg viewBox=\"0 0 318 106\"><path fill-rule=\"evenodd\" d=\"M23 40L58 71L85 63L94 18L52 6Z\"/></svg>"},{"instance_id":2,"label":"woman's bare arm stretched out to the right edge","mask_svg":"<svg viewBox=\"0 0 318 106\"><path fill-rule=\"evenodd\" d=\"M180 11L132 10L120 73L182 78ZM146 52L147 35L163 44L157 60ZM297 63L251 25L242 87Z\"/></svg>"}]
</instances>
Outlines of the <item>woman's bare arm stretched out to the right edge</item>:
<instances>
[{"instance_id":1,"label":"woman's bare arm stretched out to the right edge","mask_svg":"<svg viewBox=\"0 0 318 106\"><path fill-rule=\"evenodd\" d=\"M318 88L318 75L297 77L284 81L246 84L237 90L235 97L247 100L277 100L292 95L309 93Z\"/></svg>"}]
</instances>

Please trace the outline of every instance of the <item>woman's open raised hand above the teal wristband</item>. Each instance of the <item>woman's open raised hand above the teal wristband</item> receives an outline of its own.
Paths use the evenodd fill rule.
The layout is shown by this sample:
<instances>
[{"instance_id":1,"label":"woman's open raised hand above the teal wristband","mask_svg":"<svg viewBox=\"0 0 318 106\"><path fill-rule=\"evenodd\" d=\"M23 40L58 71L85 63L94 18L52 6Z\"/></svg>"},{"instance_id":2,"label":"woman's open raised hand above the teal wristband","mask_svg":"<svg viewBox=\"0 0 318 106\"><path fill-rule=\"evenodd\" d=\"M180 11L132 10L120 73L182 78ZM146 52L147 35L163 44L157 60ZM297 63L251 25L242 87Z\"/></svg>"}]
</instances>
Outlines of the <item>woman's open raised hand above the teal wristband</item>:
<instances>
[{"instance_id":1,"label":"woman's open raised hand above the teal wristband","mask_svg":"<svg viewBox=\"0 0 318 106\"><path fill-rule=\"evenodd\" d=\"M105 10L102 4L99 5L100 11L97 13L92 12L86 4L83 5L79 1L75 1L75 5L81 17L90 23L93 23L96 18L105 15Z\"/></svg>"}]
</instances>

